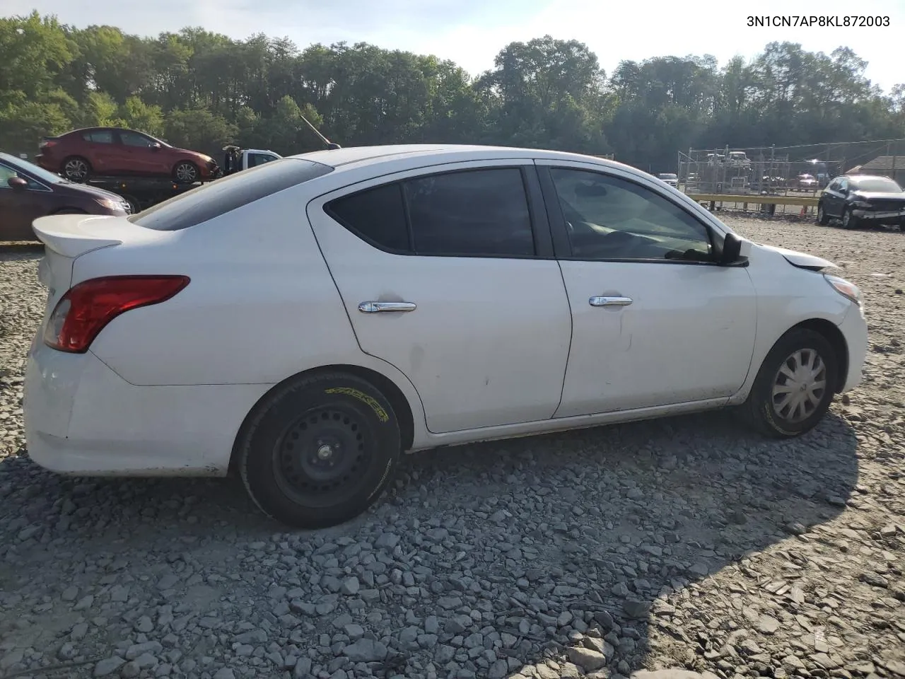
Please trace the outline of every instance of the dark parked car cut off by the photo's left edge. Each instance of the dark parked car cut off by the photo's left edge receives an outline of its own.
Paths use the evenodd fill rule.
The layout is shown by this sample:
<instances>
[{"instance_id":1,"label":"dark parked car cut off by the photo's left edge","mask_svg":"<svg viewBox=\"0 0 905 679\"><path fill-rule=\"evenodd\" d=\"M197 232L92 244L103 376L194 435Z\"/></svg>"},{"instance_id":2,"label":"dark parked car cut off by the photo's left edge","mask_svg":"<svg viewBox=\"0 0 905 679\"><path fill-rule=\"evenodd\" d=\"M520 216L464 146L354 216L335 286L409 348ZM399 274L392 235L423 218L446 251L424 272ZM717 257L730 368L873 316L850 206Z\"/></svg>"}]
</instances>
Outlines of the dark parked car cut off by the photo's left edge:
<instances>
[{"instance_id":1,"label":"dark parked car cut off by the photo's left edge","mask_svg":"<svg viewBox=\"0 0 905 679\"><path fill-rule=\"evenodd\" d=\"M0 241L36 241L32 222L46 215L128 215L110 191L73 184L33 163L0 153Z\"/></svg>"}]
</instances>

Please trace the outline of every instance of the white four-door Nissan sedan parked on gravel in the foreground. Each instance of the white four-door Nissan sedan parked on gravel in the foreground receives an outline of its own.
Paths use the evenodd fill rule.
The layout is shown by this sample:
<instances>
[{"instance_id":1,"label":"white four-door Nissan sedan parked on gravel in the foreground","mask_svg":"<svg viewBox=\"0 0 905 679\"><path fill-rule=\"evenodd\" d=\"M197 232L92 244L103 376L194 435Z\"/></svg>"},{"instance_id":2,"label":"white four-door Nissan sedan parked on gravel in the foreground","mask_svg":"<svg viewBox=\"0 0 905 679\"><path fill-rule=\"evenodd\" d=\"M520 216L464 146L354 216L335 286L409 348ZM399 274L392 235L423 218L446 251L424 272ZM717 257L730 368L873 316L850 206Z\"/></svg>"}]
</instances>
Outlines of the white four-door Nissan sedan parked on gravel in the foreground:
<instances>
[{"instance_id":1,"label":"white four-door Nissan sedan parked on gravel in the foreground","mask_svg":"<svg viewBox=\"0 0 905 679\"><path fill-rule=\"evenodd\" d=\"M295 526L363 512L404 451L719 406L794 436L861 379L833 264L599 158L338 148L33 228L33 460L234 469Z\"/></svg>"}]
</instances>

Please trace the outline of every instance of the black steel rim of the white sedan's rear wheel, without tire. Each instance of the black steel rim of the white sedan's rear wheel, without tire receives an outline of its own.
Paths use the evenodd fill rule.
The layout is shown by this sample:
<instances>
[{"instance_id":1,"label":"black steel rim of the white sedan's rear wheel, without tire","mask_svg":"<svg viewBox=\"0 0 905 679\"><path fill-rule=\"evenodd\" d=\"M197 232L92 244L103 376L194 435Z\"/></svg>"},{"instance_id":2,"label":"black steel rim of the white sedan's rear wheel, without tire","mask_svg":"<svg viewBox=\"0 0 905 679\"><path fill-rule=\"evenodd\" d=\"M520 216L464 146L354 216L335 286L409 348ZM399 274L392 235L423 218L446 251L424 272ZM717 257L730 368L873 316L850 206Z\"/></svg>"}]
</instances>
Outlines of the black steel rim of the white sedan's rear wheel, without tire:
<instances>
[{"instance_id":1,"label":"black steel rim of the white sedan's rear wheel, without tire","mask_svg":"<svg viewBox=\"0 0 905 679\"><path fill-rule=\"evenodd\" d=\"M274 446L273 470L283 493L309 506L329 506L356 493L367 468L367 427L344 406L317 408L289 426Z\"/></svg>"}]
</instances>

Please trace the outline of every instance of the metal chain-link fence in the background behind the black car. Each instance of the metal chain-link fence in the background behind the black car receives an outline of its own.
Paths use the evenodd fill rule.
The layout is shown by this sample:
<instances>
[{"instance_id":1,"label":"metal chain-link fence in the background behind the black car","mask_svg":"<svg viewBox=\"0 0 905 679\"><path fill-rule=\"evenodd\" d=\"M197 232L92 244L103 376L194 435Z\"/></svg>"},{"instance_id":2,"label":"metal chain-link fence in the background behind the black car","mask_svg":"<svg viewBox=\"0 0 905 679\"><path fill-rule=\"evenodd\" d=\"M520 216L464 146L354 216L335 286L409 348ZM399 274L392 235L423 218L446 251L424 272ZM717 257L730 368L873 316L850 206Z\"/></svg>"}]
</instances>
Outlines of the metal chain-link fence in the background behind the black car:
<instances>
[{"instance_id":1,"label":"metal chain-link fence in the background behind the black car","mask_svg":"<svg viewBox=\"0 0 905 679\"><path fill-rule=\"evenodd\" d=\"M690 148L678 154L685 193L815 196L833 177L876 174L905 183L905 139L795 147Z\"/></svg>"}]
</instances>

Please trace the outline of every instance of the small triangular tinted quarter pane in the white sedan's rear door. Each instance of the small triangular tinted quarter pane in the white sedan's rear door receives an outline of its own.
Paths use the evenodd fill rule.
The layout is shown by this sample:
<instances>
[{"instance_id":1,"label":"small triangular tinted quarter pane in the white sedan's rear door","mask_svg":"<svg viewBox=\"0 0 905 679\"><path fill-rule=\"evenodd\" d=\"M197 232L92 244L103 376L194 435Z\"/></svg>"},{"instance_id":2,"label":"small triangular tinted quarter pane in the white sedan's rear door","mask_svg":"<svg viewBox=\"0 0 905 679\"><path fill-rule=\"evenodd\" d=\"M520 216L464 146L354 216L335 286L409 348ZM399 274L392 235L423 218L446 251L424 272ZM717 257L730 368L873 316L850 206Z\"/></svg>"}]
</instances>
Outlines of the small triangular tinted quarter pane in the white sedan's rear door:
<instances>
[{"instance_id":1,"label":"small triangular tinted quarter pane in the white sedan's rear door","mask_svg":"<svg viewBox=\"0 0 905 679\"><path fill-rule=\"evenodd\" d=\"M402 185L386 184L331 201L327 212L378 247L410 252Z\"/></svg>"}]
</instances>

